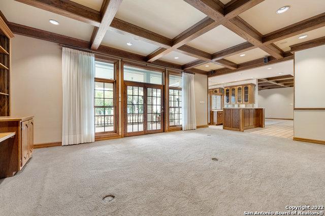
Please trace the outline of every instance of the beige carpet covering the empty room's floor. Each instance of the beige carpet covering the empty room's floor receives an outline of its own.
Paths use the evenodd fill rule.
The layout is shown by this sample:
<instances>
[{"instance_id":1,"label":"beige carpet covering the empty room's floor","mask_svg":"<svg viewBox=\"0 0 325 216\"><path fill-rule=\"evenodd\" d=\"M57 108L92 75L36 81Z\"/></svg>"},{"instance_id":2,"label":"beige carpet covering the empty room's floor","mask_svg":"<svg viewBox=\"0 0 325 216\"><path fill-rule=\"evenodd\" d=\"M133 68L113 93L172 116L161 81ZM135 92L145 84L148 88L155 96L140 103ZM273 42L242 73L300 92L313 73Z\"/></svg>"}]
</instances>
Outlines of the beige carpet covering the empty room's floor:
<instances>
[{"instance_id":1,"label":"beige carpet covering the empty room's floor","mask_svg":"<svg viewBox=\"0 0 325 216\"><path fill-rule=\"evenodd\" d=\"M243 215L324 205L324 186L324 145L202 128L35 150L0 214Z\"/></svg>"}]
</instances>

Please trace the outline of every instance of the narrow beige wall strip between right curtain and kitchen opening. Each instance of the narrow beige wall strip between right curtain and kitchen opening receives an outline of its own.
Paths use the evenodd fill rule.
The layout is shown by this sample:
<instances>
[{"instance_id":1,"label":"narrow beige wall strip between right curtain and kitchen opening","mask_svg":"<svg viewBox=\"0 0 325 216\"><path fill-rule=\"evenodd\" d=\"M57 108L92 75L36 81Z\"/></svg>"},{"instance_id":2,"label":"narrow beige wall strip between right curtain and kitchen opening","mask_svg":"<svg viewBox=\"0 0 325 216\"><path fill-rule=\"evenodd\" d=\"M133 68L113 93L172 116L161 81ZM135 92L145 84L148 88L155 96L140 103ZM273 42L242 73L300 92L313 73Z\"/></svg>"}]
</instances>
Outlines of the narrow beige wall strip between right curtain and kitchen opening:
<instances>
[{"instance_id":1,"label":"narrow beige wall strip between right curtain and kitchen opening","mask_svg":"<svg viewBox=\"0 0 325 216\"><path fill-rule=\"evenodd\" d=\"M194 75L197 126L208 124L208 83L207 76Z\"/></svg>"}]
</instances>

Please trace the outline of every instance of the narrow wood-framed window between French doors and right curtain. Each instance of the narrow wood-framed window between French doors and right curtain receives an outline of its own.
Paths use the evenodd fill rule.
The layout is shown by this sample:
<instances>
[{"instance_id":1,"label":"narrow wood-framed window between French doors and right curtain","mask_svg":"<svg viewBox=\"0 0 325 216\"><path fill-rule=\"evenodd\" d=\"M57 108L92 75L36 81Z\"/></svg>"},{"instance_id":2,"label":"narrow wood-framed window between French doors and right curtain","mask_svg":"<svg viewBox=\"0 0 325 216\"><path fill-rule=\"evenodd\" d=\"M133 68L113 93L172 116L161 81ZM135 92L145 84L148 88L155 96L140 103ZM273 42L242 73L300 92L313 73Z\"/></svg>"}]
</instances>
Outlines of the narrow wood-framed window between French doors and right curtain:
<instances>
[{"instance_id":1,"label":"narrow wood-framed window between French doors and right curtain","mask_svg":"<svg viewBox=\"0 0 325 216\"><path fill-rule=\"evenodd\" d=\"M169 126L182 126L182 77L169 75Z\"/></svg>"}]
</instances>

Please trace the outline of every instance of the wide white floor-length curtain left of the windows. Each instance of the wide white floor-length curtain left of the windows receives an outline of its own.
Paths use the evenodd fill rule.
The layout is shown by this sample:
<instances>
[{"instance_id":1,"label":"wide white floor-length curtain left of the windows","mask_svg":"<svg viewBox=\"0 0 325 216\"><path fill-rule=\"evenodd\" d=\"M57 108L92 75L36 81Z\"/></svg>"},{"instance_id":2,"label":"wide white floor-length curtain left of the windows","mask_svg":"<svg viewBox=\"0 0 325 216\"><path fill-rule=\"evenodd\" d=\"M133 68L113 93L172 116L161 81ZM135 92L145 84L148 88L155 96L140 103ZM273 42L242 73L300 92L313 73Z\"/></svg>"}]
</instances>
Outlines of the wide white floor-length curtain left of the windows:
<instances>
[{"instance_id":1,"label":"wide white floor-length curtain left of the windows","mask_svg":"<svg viewBox=\"0 0 325 216\"><path fill-rule=\"evenodd\" d=\"M94 141L94 54L62 48L62 146Z\"/></svg>"}]
</instances>

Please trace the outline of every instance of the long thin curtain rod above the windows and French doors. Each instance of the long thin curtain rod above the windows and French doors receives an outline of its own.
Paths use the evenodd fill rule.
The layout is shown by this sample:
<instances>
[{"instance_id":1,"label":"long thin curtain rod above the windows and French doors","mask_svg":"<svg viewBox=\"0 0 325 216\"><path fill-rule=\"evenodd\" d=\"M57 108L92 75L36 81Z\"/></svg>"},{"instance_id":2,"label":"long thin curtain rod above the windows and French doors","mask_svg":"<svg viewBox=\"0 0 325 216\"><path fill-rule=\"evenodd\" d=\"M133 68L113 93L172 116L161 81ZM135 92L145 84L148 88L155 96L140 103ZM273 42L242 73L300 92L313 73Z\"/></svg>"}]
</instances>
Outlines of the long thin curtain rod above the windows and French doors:
<instances>
[{"instance_id":1,"label":"long thin curtain rod above the windows and French doors","mask_svg":"<svg viewBox=\"0 0 325 216\"><path fill-rule=\"evenodd\" d=\"M80 50L80 51L84 51L84 52L94 53L96 55L110 56L112 58L115 58L115 59L121 60L121 61L122 60L131 61L131 62L135 62L135 63L138 63L138 64L146 65L146 66L153 66L153 67L157 67L157 68L164 68L164 69L176 70L176 71L180 71L180 73L195 74L194 72L191 72L191 71L185 71L185 70L177 69L177 68L174 68L174 67L168 67L168 66L161 66L161 65L157 65L157 64L151 64L151 63L148 63L148 62L138 61L138 60L134 60L134 59L121 58L121 57L117 57L115 55L105 54L105 53L98 52L98 51L95 51L95 50L90 50L90 49L87 49L87 48L80 48L80 47L70 46L70 45L66 45L66 44L59 44L59 45L61 47L67 47L67 48L70 48L70 49L75 49L75 50Z\"/></svg>"}]
</instances>

